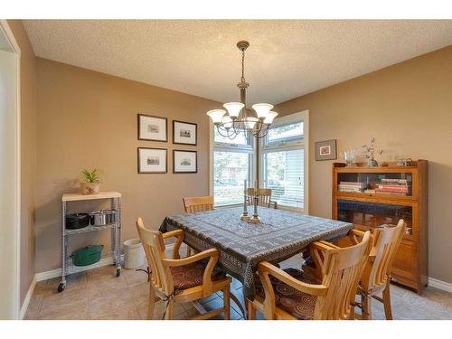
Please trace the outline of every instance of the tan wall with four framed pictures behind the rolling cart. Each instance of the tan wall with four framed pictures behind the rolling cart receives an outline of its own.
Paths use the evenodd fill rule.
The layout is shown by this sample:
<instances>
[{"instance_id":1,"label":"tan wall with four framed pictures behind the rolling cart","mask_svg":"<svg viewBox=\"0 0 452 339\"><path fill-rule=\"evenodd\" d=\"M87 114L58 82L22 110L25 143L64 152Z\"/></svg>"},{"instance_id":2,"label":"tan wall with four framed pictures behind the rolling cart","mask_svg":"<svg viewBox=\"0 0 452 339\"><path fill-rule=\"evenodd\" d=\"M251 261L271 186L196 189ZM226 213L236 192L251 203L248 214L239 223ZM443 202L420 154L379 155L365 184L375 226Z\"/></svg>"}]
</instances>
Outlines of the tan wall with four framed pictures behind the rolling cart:
<instances>
[{"instance_id":1,"label":"tan wall with four framed pictures behind the rolling cart","mask_svg":"<svg viewBox=\"0 0 452 339\"><path fill-rule=\"evenodd\" d=\"M37 82L37 272L61 267L61 194L79 189L83 167L103 171L102 190L123 193L123 240L137 237L137 217L157 229L182 212L183 196L208 194L205 112L219 103L39 58ZM138 113L168 118L168 142L137 140ZM173 119L198 124L198 146L173 145ZM138 146L167 148L168 173L137 174ZM198 173L173 174L173 149L197 150ZM70 251L107 240L80 236Z\"/></svg>"}]
</instances>

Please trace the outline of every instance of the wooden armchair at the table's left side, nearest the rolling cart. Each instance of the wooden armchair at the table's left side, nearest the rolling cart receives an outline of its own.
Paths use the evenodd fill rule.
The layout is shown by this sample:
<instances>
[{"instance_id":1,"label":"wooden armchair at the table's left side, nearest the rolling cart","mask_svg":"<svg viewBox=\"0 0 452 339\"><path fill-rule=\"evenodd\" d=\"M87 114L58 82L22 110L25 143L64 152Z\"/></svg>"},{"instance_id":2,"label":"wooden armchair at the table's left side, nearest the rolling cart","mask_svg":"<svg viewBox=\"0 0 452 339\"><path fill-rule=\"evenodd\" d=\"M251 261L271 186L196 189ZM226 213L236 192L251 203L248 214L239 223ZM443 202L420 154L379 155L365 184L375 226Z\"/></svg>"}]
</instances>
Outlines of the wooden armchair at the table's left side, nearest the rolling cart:
<instances>
[{"instance_id":1,"label":"wooden armchair at the table's left side, nearest the rolling cart","mask_svg":"<svg viewBox=\"0 0 452 339\"><path fill-rule=\"evenodd\" d=\"M231 278L214 269L218 260L217 250L204 250L192 257L180 259L179 248L184 240L184 231L162 234L159 231L147 230L141 218L137 220L137 230L151 268L147 319L153 317L155 298L166 303L165 319L173 319L174 303L199 300L218 291L223 292L223 307L193 319L208 319L221 313L224 313L225 319L230 319ZM173 259L167 259L165 255L164 240L170 237L176 238Z\"/></svg>"}]
</instances>

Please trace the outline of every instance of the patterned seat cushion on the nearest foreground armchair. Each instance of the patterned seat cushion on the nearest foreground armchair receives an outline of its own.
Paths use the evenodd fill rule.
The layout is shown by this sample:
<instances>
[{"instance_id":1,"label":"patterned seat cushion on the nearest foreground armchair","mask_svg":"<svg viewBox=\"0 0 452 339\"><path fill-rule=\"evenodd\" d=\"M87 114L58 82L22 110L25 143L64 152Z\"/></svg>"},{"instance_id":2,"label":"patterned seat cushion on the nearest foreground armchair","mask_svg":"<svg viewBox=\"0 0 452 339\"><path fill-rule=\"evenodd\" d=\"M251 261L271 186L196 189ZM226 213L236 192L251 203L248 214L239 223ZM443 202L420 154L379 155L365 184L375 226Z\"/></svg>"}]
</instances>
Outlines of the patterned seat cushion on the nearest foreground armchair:
<instances>
[{"instance_id":1,"label":"patterned seat cushion on the nearest foreground armchair","mask_svg":"<svg viewBox=\"0 0 452 339\"><path fill-rule=\"evenodd\" d=\"M303 271L296 268L287 268L284 271L296 278L297 280L306 282L307 284L320 285L321 282L308 276ZM256 279L256 294L259 297L264 298L264 287L262 286L260 279ZM312 320L314 316L316 296L308 295L304 292L300 292L294 287L288 286L286 283L274 278L270 275L271 285L275 291L275 303L276 306L288 314L295 316L300 320Z\"/></svg>"}]
</instances>

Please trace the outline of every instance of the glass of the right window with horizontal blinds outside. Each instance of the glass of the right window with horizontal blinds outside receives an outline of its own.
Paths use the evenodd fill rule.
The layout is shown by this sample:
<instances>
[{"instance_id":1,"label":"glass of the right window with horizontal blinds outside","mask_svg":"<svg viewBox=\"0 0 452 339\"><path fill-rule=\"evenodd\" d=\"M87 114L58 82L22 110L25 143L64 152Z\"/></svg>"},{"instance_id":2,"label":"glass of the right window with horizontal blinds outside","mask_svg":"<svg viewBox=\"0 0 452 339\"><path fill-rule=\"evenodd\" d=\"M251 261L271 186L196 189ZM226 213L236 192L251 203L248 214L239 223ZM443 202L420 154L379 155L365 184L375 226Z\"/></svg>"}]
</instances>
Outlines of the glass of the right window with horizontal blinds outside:
<instances>
[{"instance_id":1,"label":"glass of the right window with horizontal blinds outside","mask_svg":"<svg viewBox=\"0 0 452 339\"><path fill-rule=\"evenodd\" d=\"M261 185L278 206L305 210L305 121L302 114L279 118L262 140Z\"/></svg>"}]
</instances>

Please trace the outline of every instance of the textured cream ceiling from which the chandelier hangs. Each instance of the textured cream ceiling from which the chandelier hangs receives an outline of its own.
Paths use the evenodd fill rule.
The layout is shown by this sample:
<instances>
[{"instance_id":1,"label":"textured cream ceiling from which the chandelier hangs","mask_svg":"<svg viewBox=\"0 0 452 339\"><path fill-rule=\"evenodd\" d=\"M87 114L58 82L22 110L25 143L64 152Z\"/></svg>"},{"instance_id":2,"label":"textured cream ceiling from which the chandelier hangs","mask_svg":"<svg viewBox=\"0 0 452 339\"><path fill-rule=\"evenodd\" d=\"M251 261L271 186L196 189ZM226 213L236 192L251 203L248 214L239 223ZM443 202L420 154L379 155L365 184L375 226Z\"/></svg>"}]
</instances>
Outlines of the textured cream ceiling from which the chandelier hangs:
<instances>
[{"instance_id":1,"label":"textured cream ceiling from which the chandelier hangs","mask_svg":"<svg viewBox=\"0 0 452 339\"><path fill-rule=\"evenodd\" d=\"M36 55L208 99L279 103L452 44L452 20L26 20Z\"/></svg>"}]
</instances>

